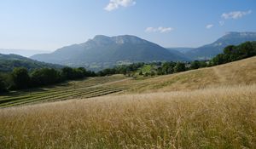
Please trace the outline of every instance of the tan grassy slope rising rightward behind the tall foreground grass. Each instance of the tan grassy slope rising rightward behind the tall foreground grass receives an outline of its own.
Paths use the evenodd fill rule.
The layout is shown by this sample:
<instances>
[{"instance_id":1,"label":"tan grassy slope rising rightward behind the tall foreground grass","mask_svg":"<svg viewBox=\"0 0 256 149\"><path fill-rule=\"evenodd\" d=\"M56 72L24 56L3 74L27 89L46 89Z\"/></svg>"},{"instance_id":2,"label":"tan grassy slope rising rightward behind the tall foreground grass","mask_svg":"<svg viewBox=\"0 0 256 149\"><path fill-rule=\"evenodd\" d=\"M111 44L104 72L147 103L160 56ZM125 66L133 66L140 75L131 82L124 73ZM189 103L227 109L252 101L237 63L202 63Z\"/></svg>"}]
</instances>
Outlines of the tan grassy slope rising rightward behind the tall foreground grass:
<instances>
[{"instance_id":1,"label":"tan grassy slope rising rightward behind the tall foreground grass","mask_svg":"<svg viewBox=\"0 0 256 149\"><path fill-rule=\"evenodd\" d=\"M131 83L131 81L130 81ZM132 92L177 91L256 83L256 56L189 72L133 82ZM137 85L136 85L137 84Z\"/></svg>"}]
</instances>

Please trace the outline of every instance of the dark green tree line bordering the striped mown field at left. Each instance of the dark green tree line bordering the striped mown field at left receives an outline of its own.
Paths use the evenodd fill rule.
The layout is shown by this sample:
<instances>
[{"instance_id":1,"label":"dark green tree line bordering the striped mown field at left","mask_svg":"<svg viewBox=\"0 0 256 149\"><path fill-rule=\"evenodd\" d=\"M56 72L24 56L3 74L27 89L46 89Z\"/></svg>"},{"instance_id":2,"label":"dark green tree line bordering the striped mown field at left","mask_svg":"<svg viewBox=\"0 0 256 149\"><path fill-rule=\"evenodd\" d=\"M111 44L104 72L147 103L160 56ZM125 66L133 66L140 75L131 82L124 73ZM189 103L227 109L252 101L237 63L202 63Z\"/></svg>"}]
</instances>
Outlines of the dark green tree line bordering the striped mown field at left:
<instances>
[{"instance_id":1,"label":"dark green tree line bordering the striped mown field at left","mask_svg":"<svg viewBox=\"0 0 256 149\"><path fill-rule=\"evenodd\" d=\"M61 70L41 68L32 72L28 72L25 67L16 67L12 72L4 73L0 76L0 92L42 87L67 80L95 76L95 72L87 71L84 67L63 67Z\"/></svg>"}]
</instances>

